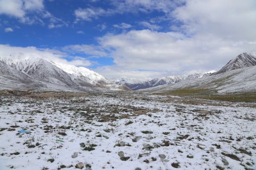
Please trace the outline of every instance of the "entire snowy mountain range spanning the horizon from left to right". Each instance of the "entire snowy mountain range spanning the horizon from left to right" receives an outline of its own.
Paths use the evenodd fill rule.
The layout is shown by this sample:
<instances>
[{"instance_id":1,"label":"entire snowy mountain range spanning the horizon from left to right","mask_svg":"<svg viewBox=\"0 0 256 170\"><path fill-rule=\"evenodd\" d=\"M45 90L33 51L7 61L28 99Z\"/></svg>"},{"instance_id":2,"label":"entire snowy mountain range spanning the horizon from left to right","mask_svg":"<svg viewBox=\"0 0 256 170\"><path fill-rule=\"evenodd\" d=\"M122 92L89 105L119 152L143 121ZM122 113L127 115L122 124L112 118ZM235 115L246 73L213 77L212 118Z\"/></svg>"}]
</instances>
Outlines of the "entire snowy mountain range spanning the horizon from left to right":
<instances>
[{"instance_id":1,"label":"entire snowy mountain range spanning the horizon from left to right","mask_svg":"<svg viewBox=\"0 0 256 170\"><path fill-rule=\"evenodd\" d=\"M139 90L164 92L177 89L212 89L218 93L256 91L256 57L243 53L219 71L147 80L105 79L85 67L33 58L22 53L0 54L0 90L63 91Z\"/></svg>"}]
</instances>

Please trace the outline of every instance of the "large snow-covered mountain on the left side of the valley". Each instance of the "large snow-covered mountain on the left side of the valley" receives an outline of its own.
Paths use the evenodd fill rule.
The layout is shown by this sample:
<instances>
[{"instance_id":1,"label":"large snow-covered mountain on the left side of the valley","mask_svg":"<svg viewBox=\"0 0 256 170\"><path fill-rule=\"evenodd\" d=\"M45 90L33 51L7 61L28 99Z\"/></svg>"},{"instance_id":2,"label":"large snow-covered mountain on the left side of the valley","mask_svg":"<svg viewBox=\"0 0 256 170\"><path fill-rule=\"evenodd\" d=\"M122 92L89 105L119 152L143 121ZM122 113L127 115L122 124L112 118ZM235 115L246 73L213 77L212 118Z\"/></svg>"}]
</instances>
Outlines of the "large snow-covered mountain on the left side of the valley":
<instances>
[{"instance_id":1,"label":"large snow-covered mountain on the left side of the valley","mask_svg":"<svg viewBox=\"0 0 256 170\"><path fill-rule=\"evenodd\" d=\"M121 90L122 88L84 67L59 64L24 54L0 55L0 89ZM12 86L16 84L15 86Z\"/></svg>"}]
</instances>

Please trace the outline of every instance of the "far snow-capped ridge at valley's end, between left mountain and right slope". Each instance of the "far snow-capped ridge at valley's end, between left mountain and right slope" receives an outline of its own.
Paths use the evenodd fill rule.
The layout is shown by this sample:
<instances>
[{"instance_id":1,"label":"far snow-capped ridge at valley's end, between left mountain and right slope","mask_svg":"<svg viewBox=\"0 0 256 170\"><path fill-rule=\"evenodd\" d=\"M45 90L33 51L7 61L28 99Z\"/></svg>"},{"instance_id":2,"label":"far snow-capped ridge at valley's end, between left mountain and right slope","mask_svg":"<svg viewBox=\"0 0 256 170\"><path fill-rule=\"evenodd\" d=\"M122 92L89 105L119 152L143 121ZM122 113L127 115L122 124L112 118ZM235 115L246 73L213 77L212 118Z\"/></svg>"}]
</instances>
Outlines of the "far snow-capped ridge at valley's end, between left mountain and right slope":
<instances>
[{"instance_id":1,"label":"far snow-capped ridge at valley's end, between left mountain and right slope","mask_svg":"<svg viewBox=\"0 0 256 170\"><path fill-rule=\"evenodd\" d=\"M215 70L205 72L203 74L193 74L188 76L168 76L163 78L155 78L155 79L148 79L144 81L136 80L136 79L119 79L114 81L118 85L125 85L132 90L139 90L145 89L150 87L156 87L165 84L174 84L178 83L181 80L188 80L188 79L198 79L209 76Z\"/></svg>"}]
</instances>

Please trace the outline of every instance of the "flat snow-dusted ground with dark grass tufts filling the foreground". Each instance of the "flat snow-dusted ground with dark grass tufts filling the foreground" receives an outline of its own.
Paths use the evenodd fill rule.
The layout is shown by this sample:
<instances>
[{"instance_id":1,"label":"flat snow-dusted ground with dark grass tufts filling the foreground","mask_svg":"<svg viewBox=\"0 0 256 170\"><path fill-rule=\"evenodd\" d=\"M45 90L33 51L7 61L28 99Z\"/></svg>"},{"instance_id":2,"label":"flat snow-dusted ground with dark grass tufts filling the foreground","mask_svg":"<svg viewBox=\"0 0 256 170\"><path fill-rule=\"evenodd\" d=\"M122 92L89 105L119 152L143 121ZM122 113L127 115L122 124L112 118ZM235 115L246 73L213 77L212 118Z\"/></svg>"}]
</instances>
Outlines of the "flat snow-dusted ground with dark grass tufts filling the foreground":
<instances>
[{"instance_id":1,"label":"flat snow-dusted ground with dark grass tufts filling the foreground","mask_svg":"<svg viewBox=\"0 0 256 170\"><path fill-rule=\"evenodd\" d=\"M1 94L0 169L256 169L255 116L175 96Z\"/></svg>"}]
</instances>

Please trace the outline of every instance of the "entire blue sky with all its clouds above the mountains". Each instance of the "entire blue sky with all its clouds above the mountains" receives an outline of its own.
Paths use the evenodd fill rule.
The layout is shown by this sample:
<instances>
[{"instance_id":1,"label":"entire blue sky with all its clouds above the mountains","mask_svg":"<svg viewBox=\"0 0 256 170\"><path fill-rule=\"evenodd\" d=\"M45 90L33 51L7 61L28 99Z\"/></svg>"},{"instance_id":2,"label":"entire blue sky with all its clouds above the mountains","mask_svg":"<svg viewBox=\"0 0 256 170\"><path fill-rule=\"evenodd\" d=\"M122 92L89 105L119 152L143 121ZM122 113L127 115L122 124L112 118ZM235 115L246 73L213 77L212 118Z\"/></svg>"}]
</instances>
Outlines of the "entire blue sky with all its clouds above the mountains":
<instances>
[{"instance_id":1,"label":"entire blue sky with all its clouds above the mountains","mask_svg":"<svg viewBox=\"0 0 256 170\"><path fill-rule=\"evenodd\" d=\"M218 70L256 55L255 0L0 0L0 53L108 79Z\"/></svg>"}]
</instances>

